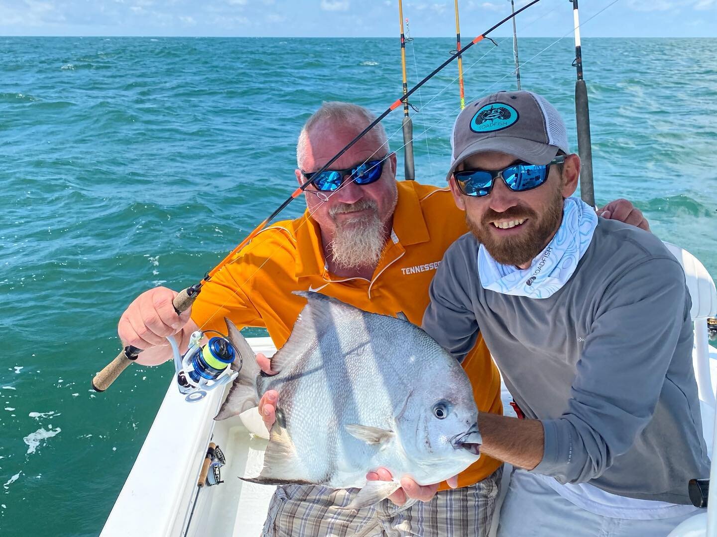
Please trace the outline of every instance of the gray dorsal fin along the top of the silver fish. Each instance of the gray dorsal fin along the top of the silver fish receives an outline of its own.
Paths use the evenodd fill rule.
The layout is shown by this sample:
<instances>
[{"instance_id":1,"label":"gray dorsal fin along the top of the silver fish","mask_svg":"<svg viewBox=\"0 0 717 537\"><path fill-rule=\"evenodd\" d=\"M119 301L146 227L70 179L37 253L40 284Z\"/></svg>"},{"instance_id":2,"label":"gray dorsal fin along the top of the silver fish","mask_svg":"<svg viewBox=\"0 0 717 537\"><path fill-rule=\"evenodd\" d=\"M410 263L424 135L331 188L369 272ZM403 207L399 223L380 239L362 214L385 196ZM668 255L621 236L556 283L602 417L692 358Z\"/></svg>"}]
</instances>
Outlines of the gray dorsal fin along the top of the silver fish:
<instances>
[{"instance_id":1,"label":"gray dorsal fin along the top of the silver fish","mask_svg":"<svg viewBox=\"0 0 717 537\"><path fill-rule=\"evenodd\" d=\"M289 339L271 359L271 368L276 372L283 371L298 354L317 344L323 335L336 330L340 316L364 313L331 296L313 291L293 291L293 294L303 296L308 302L300 311Z\"/></svg>"}]
</instances>

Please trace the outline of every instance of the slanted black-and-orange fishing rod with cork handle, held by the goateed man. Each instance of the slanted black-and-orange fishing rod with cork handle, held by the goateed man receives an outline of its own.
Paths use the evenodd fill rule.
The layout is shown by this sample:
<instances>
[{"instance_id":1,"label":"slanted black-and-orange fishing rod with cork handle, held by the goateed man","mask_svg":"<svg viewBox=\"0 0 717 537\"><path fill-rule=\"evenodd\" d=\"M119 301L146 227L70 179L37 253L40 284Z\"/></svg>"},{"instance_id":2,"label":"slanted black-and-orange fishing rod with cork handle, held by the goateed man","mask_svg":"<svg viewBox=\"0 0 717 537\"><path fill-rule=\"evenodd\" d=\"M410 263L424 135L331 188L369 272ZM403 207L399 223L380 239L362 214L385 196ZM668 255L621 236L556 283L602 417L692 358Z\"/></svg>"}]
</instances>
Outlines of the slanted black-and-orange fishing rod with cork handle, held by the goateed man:
<instances>
[{"instance_id":1,"label":"slanted black-and-orange fishing rod with cork handle, held by the goateed man","mask_svg":"<svg viewBox=\"0 0 717 537\"><path fill-rule=\"evenodd\" d=\"M369 131L371 131L371 129L376 127L376 125L378 125L379 122L381 122L381 120L384 119L384 117L386 117L391 112L396 110L404 102L407 102L408 98L411 95L413 95L413 93L416 92L417 89L419 89L420 87L422 87L423 84L425 84L430 79L435 77L435 75L437 73L439 73L444 67L446 67L448 64L450 64L450 62L452 62L454 59L456 59L457 57L460 57L460 55L463 54L465 51L467 51L467 49L470 49L470 47L473 47L473 45L483 41L483 39L486 39L486 38L490 39L490 41L492 41L493 44L496 44L495 41L493 41L493 39L488 37L488 34L490 34L490 32L493 32L493 30L495 30L499 26L502 26L503 24L505 24L505 22L513 19L513 17L517 16L518 14L525 11L529 7L533 6L533 4L537 4L539 1L540 0L532 0L530 3L521 7L521 9L518 9L518 11L514 12L513 14L511 14L509 16L506 16L504 19L501 19L497 24L490 26L490 28L488 30L483 32L483 34L476 36L475 39L473 39L473 41L471 41L470 43L465 45L465 47L462 47L462 49L458 49L455 52L455 54L451 54L451 56L447 60L445 60L445 62L443 62L438 67L433 69L432 72L427 74L427 76L425 76L414 87L412 87L407 92L405 92L403 97L394 101L391 104L391 106L389 106L388 108L386 108L386 110L384 110L384 112L381 112L381 115L376 117L376 119L373 120L364 130L359 132L359 134L356 135L356 137L354 137L353 140L351 140L351 142L348 142L348 144L346 144L343 147L343 149L341 149L338 153L336 153L336 155L333 155L333 157L331 157L331 159L329 159L326 164L324 164L319 170L317 170L312 175L320 175L321 173L326 171L329 166L331 166L333 163L336 162L336 160L341 158L341 155L346 153L346 151L351 149L351 147L353 147L353 145L356 144L356 142L361 140L361 138L364 137L364 135L366 135ZM246 238L244 238L244 240L241 243L239 243L239 245L237 245L236 248L234 248L231 252L229 252L227 254L227 256L224 257L224 259L222 259L222 261L217 266L214 267L214 269L207 272L204 275L204 278L202 278L201 281L199 281L199 283L189 286L188 288L180 291L179 294L177 294L174 297L174 301L172 301L172 304L174 305L174 310L177 312L177 314L181 314L182 311L186 311L187 309L189 309L191 307L191 304L194 303L194 301L196 300L196 297L201 292L201 287L204 284L206 284L206 282L208 282L210 279L212 279L212 276L214 276L214 274L217 274L217 272L219 270L221 270L222 267L224 267L224 265L233 261L234 258L236 258L238 256L239 251L241 251L242 248L244 248L244 246L247 246L247 244L250 243L250 241L252 241L252 239L255 238L265 228L265 226L267 226L267 223L272 221L272 219L275 218L275 216L277 216L281 211L283 211L287 207L287 205L289 205L289 203L291 203L295 198L298 198L298 196L305 190L306 187L308 187L308 185L310 185L310 183L311 183L311 180L307 180L305 183L301 184L296 190L294 190L293 193L291 193L291 195L286 200L284 200L284 202L281 205L279 205L279 207L276 208L273 213L271 213L267 218L265 218L251 233L249 233L249 235ZM120 353L117 355L117 357L115 357L115 359L113 359L112 362L107 364L102 369L102 371L98 372L98 374L95 375L95 377L92 379L92 388L96 392L103 392L103 391L107 390L107 388L110 387L110 384L112 384L115 381L115 379L117 379L117 377L119 377L119 375L128 367L128 365L131 364L132 362L134 362L138 358L138 356L141 352L142 352L142 349L138 349L137 347L134 347L133 345L128 345L127 347L125 347L122 351L120 351ZM201 355L201 349L199 349L199 351L197 351L197 352L199 353L199 355Z\"/></svg>"}]
</instances>

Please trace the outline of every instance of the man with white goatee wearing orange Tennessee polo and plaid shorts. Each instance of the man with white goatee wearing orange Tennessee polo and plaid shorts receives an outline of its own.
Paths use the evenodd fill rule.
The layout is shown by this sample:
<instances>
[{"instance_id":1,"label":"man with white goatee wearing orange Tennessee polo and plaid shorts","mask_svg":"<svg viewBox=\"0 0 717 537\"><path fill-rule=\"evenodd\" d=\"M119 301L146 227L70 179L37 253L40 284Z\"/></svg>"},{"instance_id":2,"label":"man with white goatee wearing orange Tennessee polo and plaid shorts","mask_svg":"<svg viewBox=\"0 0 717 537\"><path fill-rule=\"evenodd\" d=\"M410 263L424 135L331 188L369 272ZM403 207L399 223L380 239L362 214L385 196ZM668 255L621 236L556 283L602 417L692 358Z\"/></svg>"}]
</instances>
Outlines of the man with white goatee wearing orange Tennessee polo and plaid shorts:
<instances>
[{"instance_id":1,"label":"man with white goatee wearing orange Tennessee polo and plaid shorts","mask_svg":"<svg viewBox=\"0 0 717 537\"><path fill-rule=\"evenodd\" d=\"M308 119L298 140L295 172L299 183L312 180L305 190L307 211L262 231L237 261L219 271L194 303L191 319L189 313L176 315L170 289L139 296L118 328L125 343L146 349L138 362L164 362L170 357L169 349L162 347L167 335L179 332L186 348L198 326L222 330L224 316L239 327L265 326L281 347L305 304L291 293L295 290L320 290L381 314L402 311L420 324L435 269L448 246L466 231L450 191L412 181L397 183L396 157L380 126L336 160L332 170L314 174L371 120L364 108L344 103L326 103ZM625 200L607 210L615 211L615 218L647 225ZM473 379L479 410L500 413L500 378L480 337L462 365ZM277 401L263 402L268 402L263 410L272 420ZM384 500L348 512L329 508L346 505L355 490L280 486L265 535L483 535L490 526L499 477L500 462L485 456L458 477L460 488L450 490L444 484L429 503L401 508ZM404 488L409 495L427 498L436 487L417 488L407 481ZM400 495L394 499L402 503Z\"/></svg>"}]
</instances>

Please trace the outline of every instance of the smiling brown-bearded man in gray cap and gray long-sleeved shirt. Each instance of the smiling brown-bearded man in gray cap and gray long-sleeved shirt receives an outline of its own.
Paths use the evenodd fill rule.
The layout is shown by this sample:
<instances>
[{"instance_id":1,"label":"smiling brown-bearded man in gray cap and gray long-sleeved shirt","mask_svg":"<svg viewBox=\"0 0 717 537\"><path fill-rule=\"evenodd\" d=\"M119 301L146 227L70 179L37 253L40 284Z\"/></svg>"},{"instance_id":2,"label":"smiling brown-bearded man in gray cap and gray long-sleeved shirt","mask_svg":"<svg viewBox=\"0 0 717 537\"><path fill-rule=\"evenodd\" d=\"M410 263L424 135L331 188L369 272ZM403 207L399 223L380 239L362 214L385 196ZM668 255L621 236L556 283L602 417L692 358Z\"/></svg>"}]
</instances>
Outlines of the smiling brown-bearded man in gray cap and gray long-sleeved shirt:
<instances>
[{"instance_id":1,"label":"smiling brown-bearded man in gray cap and gray long-sleeved shirt","mask_svg":"<svg viewBox=\"0 0 717 537\"><path fill-rule=\"evenodd\" d=\"M709 473L680 263L569 197L580 159L543 97L489 95L452 142L471 233L446 252L423 326L458 358L482 334L525 415L479 418L483 453L522 468L499 535L667 535Z\"/></svg>"}]
</instances>

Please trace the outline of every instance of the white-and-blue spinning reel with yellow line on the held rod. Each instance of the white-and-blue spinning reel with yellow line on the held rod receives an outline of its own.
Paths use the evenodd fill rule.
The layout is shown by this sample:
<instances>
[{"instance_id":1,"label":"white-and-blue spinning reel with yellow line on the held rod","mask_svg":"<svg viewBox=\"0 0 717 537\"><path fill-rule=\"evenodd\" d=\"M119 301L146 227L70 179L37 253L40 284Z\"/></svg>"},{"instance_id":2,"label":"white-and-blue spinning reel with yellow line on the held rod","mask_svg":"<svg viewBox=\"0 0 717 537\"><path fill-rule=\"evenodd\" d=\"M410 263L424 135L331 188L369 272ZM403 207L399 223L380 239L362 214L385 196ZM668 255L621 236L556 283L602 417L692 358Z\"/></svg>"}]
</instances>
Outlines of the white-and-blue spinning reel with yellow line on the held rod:
<instances>
[{"instance_id":1,"label":"white-and-blue spinning reel with yellow line on the held rod","mask_svg":"<svg viewBox=\"0 0 717 537\"><path fill-rule=\"evenodd\" d=\"M223 334L216 332L219 336L212 337L209 342L201 345L201 339L207 332L197 330L191 334L189 349L184 355L179 354L179 347L174 337L167 337L174 354L177 387L185 396L186 402L201 401L210 390L232 382L242 367L241 355ZM239 367L234 371L230 365L237 357Z\"/></svg>"}]
</instances>

